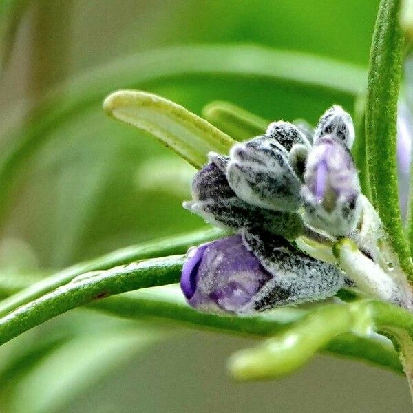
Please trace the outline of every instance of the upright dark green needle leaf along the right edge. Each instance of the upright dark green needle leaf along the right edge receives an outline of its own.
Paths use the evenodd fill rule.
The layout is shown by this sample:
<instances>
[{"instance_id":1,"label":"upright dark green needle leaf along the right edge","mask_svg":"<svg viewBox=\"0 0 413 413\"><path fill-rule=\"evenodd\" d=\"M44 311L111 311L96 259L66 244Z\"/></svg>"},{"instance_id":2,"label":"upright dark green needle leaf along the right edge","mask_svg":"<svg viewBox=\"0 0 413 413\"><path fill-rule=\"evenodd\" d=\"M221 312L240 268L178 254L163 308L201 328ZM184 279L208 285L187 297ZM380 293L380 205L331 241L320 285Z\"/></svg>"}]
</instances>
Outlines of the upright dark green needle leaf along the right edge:
<instances>
[{"instance_id":1,"label":"upright dark green needle leaf along the right edge","mask_svg":"<svg viewBox=\"0 0 413 413\"><path fill-rule=\"evenodd\" d=\"M377 14L366 97L366 148L373 205L403 270L413 280L397 190L396 120L403 52L399 9L400 0L381 0Z\"/></svg>"}]
</instances>

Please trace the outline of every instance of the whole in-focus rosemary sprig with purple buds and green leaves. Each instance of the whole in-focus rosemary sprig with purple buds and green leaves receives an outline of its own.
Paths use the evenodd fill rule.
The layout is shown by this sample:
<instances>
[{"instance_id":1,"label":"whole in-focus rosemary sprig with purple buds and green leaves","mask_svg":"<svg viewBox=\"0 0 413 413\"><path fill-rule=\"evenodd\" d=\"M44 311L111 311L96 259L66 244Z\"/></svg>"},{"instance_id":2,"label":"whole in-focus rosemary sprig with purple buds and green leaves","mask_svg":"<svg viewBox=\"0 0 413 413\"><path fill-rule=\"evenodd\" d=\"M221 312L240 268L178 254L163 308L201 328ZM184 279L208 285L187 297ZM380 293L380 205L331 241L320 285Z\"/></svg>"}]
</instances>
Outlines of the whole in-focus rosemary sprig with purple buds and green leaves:
<instances>
[{"instance_id":1,"label":"whole in-focus rosemary sprig with purple buds and green leaves","mask_svg":"<svg viewBox=\"0 0 413 413\"><path fill-rule=\"evenodd\" d=\"M344 72L358 82L344 91L359 98L355 127L340 102L312 127L302 119L270 122L226 102L210 103L200 118L147 92L107 96L109 116L149 132L198 169L184 207L217 228L115 251L14 294L16 288L4 287L10 296L0 303L0 343L86 305L131 319L264 337L229 359L229 374L238 380L289 374L317 352L329 352L403 371L413 395L413 211L403 228L396 158L409 30L401 27L400 10L400 0L381 1L366 91L362 74L350 68L332 70L324 84L343 92ZM313 72L295 76L297 59L290 56L272 75L316 85ZM144 79L156 76L150 63L146 70L139 63ZM185 72L178 66L176 72ZM125 72L130 68L127 63ZM272 69L260 67L266 75ZM93 90L97 98L101 92ZM59 121L59 111L72 110L73 102L31 133ZM30 136L0 165L3 192ZM180 289L167 286L178 282ZM147 287L156 288L109 297ZM313 304L299 305L308 301ZM295 306L286 315L280 307L289 305Z\"/></svg>"}]
</instances>

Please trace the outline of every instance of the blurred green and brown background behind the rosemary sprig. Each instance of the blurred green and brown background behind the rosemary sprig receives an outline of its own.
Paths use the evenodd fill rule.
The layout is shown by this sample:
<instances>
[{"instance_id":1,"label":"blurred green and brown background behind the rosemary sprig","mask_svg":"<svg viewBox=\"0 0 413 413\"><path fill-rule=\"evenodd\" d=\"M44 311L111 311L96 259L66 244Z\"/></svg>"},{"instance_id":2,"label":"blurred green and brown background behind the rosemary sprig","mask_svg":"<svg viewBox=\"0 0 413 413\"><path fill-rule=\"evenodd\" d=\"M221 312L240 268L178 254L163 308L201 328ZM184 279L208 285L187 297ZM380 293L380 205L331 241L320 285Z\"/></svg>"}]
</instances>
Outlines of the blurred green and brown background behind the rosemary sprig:
<instances>
[{"instance_id":1,"label":"blurred green and brown background behind the rosemary sprig","mask_svg":"<svg viewBox=\"0 0 413 413\"><path fill-rule=\"evenodd\" d=\"M268 120L315 123L332 103L352 112L348 94L200 67L222 60L218 45L251 45L366 68L378 3L3 3L0 166L9 160L12 173L0 202L0 271L40 277L203 225L181 208L191 167L107 118L105 94L136 87L197 114L211 100L229 100ZM199 45L207 45L209 61L193 63ZM125 76L128 62L137 69ZM402 377L355 361L318 357L293 377L231 383L226 357L249 344L74 310L0 349L0 412L410 411Z\"/></svg>"}]
</instances>

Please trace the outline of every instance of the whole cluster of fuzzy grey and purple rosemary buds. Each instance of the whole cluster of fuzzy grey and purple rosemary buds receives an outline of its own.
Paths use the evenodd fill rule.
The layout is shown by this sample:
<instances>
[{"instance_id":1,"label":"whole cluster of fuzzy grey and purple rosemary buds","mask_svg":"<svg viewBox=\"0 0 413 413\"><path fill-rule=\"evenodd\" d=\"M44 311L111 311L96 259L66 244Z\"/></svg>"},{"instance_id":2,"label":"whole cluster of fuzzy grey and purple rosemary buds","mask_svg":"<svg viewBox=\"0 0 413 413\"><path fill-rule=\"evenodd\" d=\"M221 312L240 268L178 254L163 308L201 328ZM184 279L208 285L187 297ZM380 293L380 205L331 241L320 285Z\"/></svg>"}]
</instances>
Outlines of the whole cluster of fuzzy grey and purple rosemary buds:
<instances>
[{"instance_id":1,"label":"whole cluster of fuzzy grey and purple rosemary buds","mask_svg":"<svg viewBox=\"0 0 413 413\"><path fill-rule=\"evenodd\" d=\"M351 266L344 273L346 263L339 268L332 255L337 237L354 240L363 251L357 262L383 273L380 287L370 285L369 275L356 283L381 288L379 295L400 304L396 284L376 263L383 229L361 195L353 142L352 118L335 105L314 131L278 121L234 145L229 156L210 153L184 207L235 235L189 251L181 278L189 304L242 314L331 297L348 278L354 282Z\"/></svg>"}]
</instances>

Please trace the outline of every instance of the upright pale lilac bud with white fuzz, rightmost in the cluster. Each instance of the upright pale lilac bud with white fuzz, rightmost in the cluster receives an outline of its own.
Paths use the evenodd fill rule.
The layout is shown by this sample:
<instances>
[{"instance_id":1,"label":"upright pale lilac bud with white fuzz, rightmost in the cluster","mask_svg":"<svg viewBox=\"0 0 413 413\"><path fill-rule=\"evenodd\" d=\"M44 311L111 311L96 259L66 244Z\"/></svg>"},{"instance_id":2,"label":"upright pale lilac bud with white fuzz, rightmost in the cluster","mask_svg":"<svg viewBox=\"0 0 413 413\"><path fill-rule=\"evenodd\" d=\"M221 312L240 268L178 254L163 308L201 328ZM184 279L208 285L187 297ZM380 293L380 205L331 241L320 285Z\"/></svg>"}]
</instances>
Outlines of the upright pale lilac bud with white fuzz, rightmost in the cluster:
<instances>
[{"instance_id":1,"label":"upright pale lilac bud with white fuzz, rightmost in the cluster","mask_svg":"<svg viewBox=\"0 0 413 413\"><path fill-rule=\"evenodd\" d=\"M348 148L332 135L319 138L308 154L304 187L305 220L331 235L348 235L361 213L357 169Z\"/></svg>"}]
</instances>

